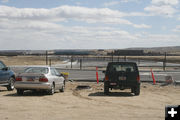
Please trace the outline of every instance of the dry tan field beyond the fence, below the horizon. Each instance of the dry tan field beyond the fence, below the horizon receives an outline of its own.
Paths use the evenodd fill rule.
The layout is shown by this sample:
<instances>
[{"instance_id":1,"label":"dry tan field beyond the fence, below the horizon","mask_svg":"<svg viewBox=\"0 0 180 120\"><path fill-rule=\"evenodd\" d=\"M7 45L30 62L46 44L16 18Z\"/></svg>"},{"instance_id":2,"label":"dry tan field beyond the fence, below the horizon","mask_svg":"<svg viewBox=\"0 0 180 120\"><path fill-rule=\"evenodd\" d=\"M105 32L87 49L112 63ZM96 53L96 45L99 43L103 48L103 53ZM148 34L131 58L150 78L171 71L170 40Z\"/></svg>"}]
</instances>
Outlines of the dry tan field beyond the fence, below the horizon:
<instances>
[{"instance_id":1,"label":"dry tan field beyond the fence, below the horizon","mask_svg":"<svg viewBox=\"0 0 180 120\"><path fill-rule=\"evenodd\" d=\"M82 58L82 56L77 56ZM84 56L85 59L88 58L97 58L97 59L111 59L111 56ZM114 56L114 59L124 59L124 56ZM53 65L60 64L60 61L57 57L49 57ZM134 60L152 60L152 61L163 61L164 56L126 56L126 59ZM45 65L46 57L45 56L0 56L2 60L8 66L11 65ZM167 56L167 62L180 63L180 56Z\"/></svg>"}]
</instances>

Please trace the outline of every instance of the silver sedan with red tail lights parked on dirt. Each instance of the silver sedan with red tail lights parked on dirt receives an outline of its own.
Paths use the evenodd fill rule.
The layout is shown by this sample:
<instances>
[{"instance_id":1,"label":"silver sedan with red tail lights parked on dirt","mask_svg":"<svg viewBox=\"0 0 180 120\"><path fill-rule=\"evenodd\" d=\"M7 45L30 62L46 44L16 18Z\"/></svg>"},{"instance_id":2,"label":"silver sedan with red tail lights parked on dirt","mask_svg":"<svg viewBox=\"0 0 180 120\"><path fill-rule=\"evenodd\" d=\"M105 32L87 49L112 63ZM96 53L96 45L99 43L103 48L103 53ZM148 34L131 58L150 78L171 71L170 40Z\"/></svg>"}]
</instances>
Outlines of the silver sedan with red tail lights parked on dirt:
<instances>
[{"instance_id":1,"label":"silver sedan with red tail lights parked on dirt","mask_svg":"<svg viewBox=\"0 0 180 120\"><path fill-rule=\"evenodd\" d=\"M53 67L28 67L16 77L14 87L18 95L25 90L45 90L53 95L55 90L64 92L65 79Z\"/></svg>"}]
</instances>

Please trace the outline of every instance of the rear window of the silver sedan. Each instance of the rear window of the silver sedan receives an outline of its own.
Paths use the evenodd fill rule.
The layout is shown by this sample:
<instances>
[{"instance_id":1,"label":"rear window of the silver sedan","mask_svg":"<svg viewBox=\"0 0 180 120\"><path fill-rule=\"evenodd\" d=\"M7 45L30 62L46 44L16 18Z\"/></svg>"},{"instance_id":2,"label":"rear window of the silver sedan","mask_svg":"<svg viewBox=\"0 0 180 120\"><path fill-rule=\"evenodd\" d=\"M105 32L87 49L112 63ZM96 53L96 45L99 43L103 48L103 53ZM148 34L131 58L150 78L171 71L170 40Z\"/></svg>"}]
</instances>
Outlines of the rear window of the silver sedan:
<instances>
[{"instance_id":1,"label":"rear window of the silver sedan","mask_svg":"<svg viewBox=\"0 0 180 120\"><path fill-rule=\"evenodd\" d=\"M48 73L48 68L43 68L43 67L30 67L27 68L25 73L41 73L41 74L47 74Z\"/></svg>"}]
</instances>

